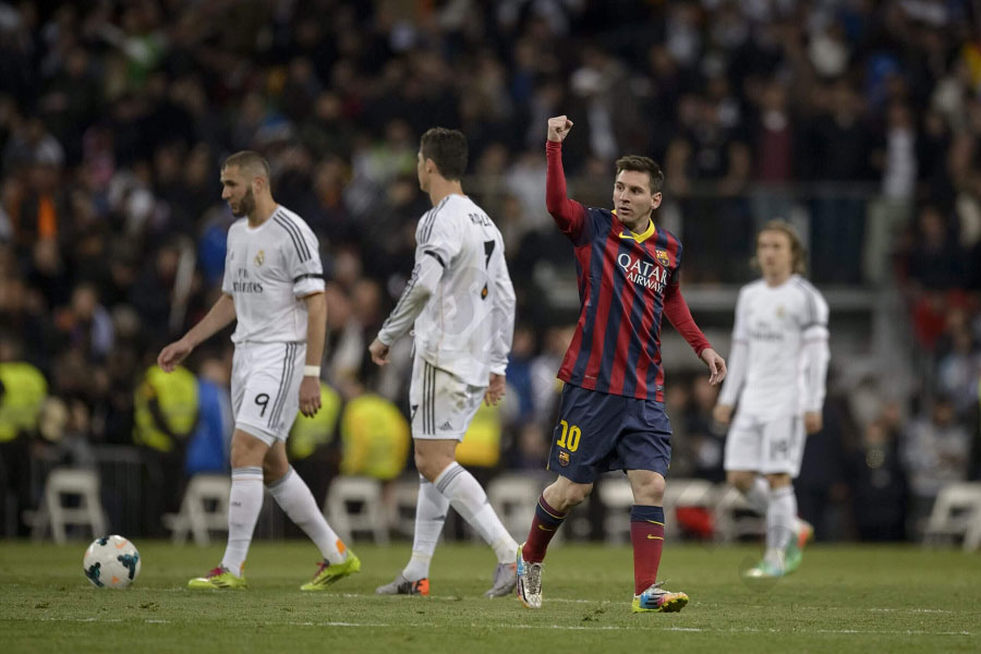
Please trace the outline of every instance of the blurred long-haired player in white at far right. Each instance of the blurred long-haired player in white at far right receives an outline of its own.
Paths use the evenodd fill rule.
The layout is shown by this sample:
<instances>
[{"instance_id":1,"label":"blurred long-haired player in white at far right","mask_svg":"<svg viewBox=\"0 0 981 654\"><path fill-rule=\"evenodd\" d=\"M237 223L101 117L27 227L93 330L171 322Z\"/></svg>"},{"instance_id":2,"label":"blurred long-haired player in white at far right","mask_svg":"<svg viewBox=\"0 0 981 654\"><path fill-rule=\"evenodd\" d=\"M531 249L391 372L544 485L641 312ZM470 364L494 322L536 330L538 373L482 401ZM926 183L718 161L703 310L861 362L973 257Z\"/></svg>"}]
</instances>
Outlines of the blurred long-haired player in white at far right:
<instances>
[{"instance_id":1,"label":"blurred long-haired player in white at far right","mask_svg":"<svg viewBox=\"0 0 981 654\"><path fill-rule=\"evenodd\" d=\"M797 518L794 477L804 432L821 429L828 311L801 277L804 249L786 222L760 231L755 264L763 277L742 287L736 300L731 368L714 416L724 425L731 422L725 452L729 483L766 517L766 553L744 573L765 578L796 570L813 535Z\"/></svg>"}]
</instances>

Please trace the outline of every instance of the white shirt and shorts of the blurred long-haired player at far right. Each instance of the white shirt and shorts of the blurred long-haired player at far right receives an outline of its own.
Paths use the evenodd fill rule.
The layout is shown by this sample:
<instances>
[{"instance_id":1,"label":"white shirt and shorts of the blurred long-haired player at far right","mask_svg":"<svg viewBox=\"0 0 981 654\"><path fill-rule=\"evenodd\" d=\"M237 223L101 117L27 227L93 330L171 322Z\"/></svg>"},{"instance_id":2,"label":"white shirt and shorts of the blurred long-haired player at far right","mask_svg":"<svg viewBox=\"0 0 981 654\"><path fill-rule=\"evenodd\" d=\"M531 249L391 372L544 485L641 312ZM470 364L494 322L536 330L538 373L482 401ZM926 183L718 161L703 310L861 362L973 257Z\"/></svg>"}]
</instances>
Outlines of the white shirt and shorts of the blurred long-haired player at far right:
<instances>
[{"instance_id":1,"label":"white shirt and shorts of the blurred long-haired player at far right","mask_svg":"<svg viewBox=\"0 0 981 654\"><path fill-rule=\"evenodd\" d=\"M802 414L824 404L827 317L824 298L798 275L778 287L761 279L740 289L718 398L739 404L726 439L726 470L800 472Z\"/></svg>"}]
</instances>

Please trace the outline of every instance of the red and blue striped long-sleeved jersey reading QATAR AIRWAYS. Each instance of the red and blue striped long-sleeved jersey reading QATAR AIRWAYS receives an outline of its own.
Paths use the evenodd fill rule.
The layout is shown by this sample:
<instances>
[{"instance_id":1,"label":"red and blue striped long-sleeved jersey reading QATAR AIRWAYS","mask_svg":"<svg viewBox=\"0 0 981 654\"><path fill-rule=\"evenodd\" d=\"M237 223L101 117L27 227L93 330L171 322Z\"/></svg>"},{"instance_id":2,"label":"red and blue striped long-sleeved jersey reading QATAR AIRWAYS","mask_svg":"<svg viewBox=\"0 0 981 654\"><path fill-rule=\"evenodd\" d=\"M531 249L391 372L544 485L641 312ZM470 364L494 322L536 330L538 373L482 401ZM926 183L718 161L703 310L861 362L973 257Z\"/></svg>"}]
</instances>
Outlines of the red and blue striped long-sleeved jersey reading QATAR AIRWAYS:
<instances>
[{"instance_id":1,"label":"red and blue striped long-sleeved jersey reading QATAR AIRWAYS","mask_svg":"<svg viewBox=\"0 0 981 654\"><path fill-rule=\"evenodd\" d=\"M662 315L697 354L710 347L681 296L681 242L653 222L634 234L614 211L568 199L560 144L548 142L546 149L546 204L576 249L581 304L558 377L591 390L663 402Z\"/></svg>"}]
</instances>

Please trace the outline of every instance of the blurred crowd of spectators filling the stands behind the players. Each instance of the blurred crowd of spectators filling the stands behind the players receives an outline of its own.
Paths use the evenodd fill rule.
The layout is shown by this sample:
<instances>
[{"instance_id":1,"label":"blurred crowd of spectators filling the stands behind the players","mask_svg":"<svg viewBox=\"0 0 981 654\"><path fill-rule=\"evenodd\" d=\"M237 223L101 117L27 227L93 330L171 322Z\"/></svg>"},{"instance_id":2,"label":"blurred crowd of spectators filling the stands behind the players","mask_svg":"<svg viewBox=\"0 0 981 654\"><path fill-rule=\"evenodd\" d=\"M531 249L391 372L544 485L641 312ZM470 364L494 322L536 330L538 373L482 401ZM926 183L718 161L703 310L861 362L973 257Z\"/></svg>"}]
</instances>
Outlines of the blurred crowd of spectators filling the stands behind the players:
<instances>
[{"instance_id":1,"label":"blurred crowd of spectators filling the stands behind the players","mask_svg":"<svg viewBox=\"0 0 981 654\"><path fill-rule=\"evenodd\" d=\"M909 537L943 484L981 475L979 23L965 0L0 2L3 531L23 533L37 500L25 460L136 444L147 484L173 485L160 510L174 471L223 468L228 339L195 352L193 395L152 368L219 292L233 218L218 171L246 148L328 278L332 409L291 452L320 497L367 470L352 444L376 433L400 435L376 474L401 472L409 352L378 372L367 344L412 268L433 125L468 136L464 189L500 226L519 293L509 401L461 462L541 469L574 317L542 274L572 276L545 211L544 125L568 113L588 134L565 159L578 198L608 204L620 154L663 162L686 284L748 281L756 227L804 216L819 287L900 290L911 337L895 356L921 385L831 379L798 489L824 537ZM671 473L723 480L714 389L668 371L668 390Z\"/></svg>"}]
</instances>

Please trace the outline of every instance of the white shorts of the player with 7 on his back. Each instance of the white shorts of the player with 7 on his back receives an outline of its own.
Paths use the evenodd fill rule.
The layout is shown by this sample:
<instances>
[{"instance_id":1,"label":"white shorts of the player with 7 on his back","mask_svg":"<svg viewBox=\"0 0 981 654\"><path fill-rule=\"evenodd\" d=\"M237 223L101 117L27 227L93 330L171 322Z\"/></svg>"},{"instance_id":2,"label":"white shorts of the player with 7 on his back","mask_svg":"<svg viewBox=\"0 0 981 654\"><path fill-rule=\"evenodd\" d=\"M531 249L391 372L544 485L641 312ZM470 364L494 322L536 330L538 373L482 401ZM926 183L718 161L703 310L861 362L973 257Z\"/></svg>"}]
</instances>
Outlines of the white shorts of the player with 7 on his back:
<instances>
[{"instance_id":1,"label":"white shorts of the player with 7 on his back","mask_svg":"<svg viewBox=\"0 0 981 654\"><path fill-rule=\"evenodd\" d=\"M409 386L412 437L463 440L486 390L486 386L471 386L416 353Z\"/></svg>"}]
</instances>

